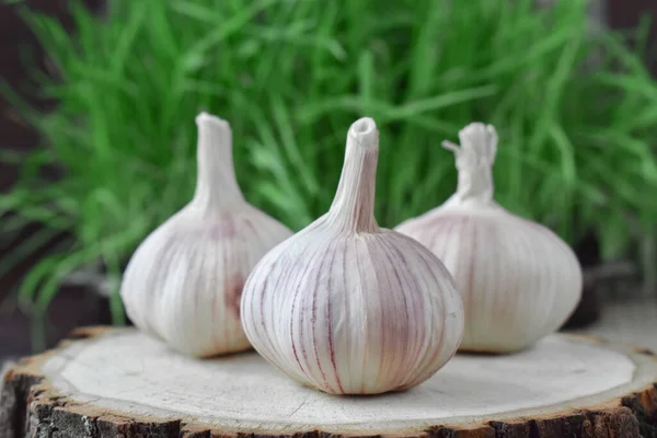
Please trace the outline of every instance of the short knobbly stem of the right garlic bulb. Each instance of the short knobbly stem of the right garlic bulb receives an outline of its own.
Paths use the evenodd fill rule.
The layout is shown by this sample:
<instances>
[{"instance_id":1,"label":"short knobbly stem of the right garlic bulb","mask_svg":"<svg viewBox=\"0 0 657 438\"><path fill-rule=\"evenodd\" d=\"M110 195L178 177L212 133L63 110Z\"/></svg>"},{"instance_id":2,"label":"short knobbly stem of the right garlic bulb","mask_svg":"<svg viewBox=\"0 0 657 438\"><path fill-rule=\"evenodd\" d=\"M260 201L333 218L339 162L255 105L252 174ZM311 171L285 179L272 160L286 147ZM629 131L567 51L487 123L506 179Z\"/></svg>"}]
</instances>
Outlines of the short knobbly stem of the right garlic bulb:
<instances>
[{"instance_id":1,"label":"short knobbly stem of the right garlic bulb","mask_svg":"<svg viewBox=\"0 0 657 438\"><path fill-rule=\"evenodd\" d=\"M452 203L493 203L493 163L497 151L497 132L491 125L473 123L459 131L461 146L443 141L442 147L457 155L459 184Z\"/></svg>"}]
</instances>

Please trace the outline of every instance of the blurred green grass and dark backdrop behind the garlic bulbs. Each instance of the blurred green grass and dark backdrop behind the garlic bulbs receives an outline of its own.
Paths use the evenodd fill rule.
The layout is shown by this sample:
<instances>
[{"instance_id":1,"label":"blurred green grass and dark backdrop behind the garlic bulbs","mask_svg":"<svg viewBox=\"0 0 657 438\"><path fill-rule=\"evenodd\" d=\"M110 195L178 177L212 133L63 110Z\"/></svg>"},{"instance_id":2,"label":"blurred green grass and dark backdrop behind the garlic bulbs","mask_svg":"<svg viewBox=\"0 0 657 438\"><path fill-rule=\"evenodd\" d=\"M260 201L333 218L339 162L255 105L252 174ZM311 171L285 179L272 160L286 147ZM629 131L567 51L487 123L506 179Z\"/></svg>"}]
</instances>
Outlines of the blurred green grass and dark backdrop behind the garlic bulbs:
<instances>
[{"instance_id":1,"label":"blurred green grass and dark backdrop behind the garlic bulbs","mask_svg":"<svg viewBox=\"0 0 657 438\"><path fill-rule=\"evenodd\" d=\"M442 140L494 124L497 201L585 268L564 330L657 349L654 0L0 1L0 361L129 323L122 269L191 199L200 111L295 230L354 119L380 126L389 228L454 191Z\"/></svg>"}]
</instances>

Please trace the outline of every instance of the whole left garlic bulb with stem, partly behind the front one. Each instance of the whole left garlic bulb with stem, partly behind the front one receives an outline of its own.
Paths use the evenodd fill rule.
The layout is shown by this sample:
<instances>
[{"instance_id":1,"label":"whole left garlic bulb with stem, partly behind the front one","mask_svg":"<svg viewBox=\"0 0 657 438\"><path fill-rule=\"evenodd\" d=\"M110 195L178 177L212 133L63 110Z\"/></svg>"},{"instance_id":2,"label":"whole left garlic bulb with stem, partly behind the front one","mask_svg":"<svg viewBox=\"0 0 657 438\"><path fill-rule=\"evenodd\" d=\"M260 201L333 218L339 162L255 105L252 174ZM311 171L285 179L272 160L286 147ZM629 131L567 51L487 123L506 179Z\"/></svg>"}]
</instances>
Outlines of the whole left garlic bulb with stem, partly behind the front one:
<instances>
[{"instance_id":1,"label":"whole left garlic bulb with stem, partly behind the front one","mask_svg":"<svg viewBox=\"0 0 657 438\"><path fill-rule=\"evenodd\" d=\"M141 331L181 353L206 357L251 348L240 322L243 284L291 231L244 200L229 124L207 113L196 124L194 198L139 245L120 295Z\"/></svg>"}]
</instances>

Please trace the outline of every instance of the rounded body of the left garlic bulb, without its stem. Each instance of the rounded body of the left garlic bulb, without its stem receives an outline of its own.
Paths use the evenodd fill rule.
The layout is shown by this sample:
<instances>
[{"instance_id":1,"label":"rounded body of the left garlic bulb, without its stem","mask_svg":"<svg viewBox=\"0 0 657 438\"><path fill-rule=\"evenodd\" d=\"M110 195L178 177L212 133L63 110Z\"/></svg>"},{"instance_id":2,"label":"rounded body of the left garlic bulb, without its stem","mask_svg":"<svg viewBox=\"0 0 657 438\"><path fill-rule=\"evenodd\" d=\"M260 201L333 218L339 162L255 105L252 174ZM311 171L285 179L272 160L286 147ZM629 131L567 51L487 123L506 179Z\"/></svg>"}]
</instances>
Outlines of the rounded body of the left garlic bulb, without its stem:
<instances>
[{"instance_id":1,"label":"rounded body of the left garlic bulb, without its stem","mask_svg":"<svg viewBox=\"0 0 657 438\"><path fill-rule=\"evenodd\" d=\"M130 260L122 287L126 312L136 326L185 355L250 349L240 322L242 287L262 255L288 235L255 209L205 219L193 208L183 210Z\"/></svg>"}]
</instances>

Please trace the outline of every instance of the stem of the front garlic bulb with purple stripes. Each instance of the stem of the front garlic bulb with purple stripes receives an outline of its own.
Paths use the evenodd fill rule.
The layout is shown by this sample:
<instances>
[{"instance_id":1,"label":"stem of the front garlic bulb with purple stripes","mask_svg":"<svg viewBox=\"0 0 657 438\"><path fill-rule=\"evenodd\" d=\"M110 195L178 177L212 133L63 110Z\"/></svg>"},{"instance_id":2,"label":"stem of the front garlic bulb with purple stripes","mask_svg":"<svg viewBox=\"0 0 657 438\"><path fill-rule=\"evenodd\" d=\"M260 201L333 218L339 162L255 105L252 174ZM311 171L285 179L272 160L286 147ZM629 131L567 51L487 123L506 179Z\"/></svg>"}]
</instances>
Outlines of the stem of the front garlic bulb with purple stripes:
<instances>
[{"instance_id":1,"label":"stem of the front garlic bulb with purple stripes","mask_svg":"<svg viewBox=\"0 0 657 438\"><path fill-rule=\"evenodd\" d=\"M343 231L378 230L374 219L379 131L374 120L362 117L349 127L343 172L328 211L328 222Z\"/></svg>"}]
</instances>

